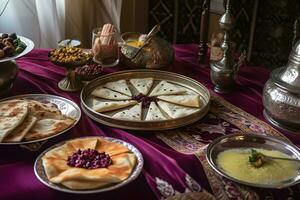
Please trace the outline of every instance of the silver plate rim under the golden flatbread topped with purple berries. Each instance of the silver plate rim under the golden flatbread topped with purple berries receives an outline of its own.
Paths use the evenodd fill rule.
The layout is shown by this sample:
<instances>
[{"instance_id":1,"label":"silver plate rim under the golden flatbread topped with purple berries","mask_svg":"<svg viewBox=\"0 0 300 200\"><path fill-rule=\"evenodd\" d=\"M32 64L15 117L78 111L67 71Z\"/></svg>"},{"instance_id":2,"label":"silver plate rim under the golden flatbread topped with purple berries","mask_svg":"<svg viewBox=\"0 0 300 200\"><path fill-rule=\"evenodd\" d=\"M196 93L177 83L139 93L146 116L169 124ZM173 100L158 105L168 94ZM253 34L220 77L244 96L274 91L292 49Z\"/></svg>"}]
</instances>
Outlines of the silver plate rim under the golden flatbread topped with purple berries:
<instances>
[{"instance_id":1,"label":"silver plate rim under the golden flatbread topped with purple berries","mask_svg":"<svg viewBox=\"0 0 300 200\"><path fill-rule=\"evenodd\" d=\"M87 138L87 137L82 137L82 138ZM115 138L111 138L111 137L99 137L99 136L94 137L94 136L91 136L89 138L103 138L103 139L108 140L110 142L115 142L115 143L124 145L126 148L128 148L137 158L137 164L134 167L134 169L133 169L132 173L130 174L130 176L127 179L125 179L124 181L122 181L118 184L111 185L111 186L108 186L108 187L98 188L98 189L92 189L92 190L72 190L72 189L69 189L69 188L61 185L61 184L55 184L55 183L50 182L49 179L47 178L47 175L45 174L45 170L44 170L44 167L43 167L43 164L42 164L42 157L48 151L63 145L67 141L70 141L70 140L67 140L67 141L61 142L59 144L56 144L56 145L46 149L43 153L41 153L37 157L37 159L35 160L35 163L34 163L34 173L35 173L36 177L43 184L45 184L46 186L48 186L48 187L50 187L54 190L67 192L67 193L74 193L74 194L91 194L91 193L99 193L99 192L106 192L106 191L110 191L110 190L115 190L115 189L120 188L124 185L127 185L128 183L135 180L139 176L139 174L141 173L141 171L143 169L143 166L144 166L144 159L143 159L143 156L142 156L141 152L135 146L133 146L132 144L129 144L129 143L123 141L123 140L119 140L119 139L115 139ZM76 139L78 139L78 138L76 138Z\"/></svg>"}]
</instances>

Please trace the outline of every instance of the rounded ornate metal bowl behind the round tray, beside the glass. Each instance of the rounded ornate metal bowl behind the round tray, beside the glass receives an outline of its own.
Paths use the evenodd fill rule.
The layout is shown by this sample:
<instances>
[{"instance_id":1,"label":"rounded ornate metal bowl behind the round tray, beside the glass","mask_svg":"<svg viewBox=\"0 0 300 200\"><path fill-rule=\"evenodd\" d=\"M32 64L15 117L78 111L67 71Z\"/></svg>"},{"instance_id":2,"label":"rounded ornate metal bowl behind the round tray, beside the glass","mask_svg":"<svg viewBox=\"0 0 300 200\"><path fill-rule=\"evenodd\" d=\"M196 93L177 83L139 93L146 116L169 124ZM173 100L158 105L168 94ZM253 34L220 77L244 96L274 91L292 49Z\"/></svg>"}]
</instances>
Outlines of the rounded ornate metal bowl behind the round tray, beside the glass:
<instances>
[{"instance_id":1,"label":"rounded ornate metal bowl behind the round tray, beside the glass","mask_svg":"<svg viewBox=\"0 0 300 200\"><path fill-rule=\"evenodd\" d=\"M174 51L171 44L160 37L153 37L141 50L127 44L128 41L138 41L141 35L137 32L126 32L121 35L122 62L125 65L133 68L157 69L173 62Z\"/></svg>"}]
</instances>

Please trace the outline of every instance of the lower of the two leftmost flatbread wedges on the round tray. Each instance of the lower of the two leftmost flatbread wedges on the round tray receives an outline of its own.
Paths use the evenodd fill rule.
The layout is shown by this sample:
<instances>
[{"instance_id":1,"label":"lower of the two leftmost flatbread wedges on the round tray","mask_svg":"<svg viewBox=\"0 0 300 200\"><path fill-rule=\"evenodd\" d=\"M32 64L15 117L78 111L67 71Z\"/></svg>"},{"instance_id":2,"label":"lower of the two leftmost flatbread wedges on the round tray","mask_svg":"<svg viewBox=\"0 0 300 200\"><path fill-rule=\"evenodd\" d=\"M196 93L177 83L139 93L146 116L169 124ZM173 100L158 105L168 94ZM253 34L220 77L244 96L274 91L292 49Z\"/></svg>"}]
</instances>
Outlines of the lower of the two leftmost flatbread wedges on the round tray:
<instances>
[{"instance_id":1,"label":"lower of the two leftmost flatbread wedges on the round tray","mask_svg":"<svg viewBox=\"0 0 300 200\"><path fill-rule=\"evenodd\" d=\"M123 100L123 101L99 101L96 98L93 99L92 109L97 112L107 112L125 108L127 106L135 105L138 102L135 100Z\"/></svg>"}]
</instances>

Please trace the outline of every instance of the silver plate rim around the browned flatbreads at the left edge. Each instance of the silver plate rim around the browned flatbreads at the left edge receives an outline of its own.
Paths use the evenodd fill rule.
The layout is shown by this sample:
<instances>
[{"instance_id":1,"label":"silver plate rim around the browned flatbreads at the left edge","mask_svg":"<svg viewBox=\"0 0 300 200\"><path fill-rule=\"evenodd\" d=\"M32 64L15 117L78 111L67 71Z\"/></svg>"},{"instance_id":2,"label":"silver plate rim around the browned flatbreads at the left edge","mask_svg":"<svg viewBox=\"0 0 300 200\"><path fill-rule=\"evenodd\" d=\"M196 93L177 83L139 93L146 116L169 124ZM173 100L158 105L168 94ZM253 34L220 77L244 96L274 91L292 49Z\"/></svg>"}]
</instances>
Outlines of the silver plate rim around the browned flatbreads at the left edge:
<instances>
[{"instance_id":1,"label":"silver plate rim around the browned flatbreads at the left edge","mask_svg":"<svg viewBox=\"0 0 300 200\"><path fill-rule=\"evenodd\" d=\"M49 137L41 138L38 140L23 141L23 142L5 142L5 143L3 142L3 143L0 143L0 145L25 145L25 144L46 141L50 138L56 137L60 134L63 134L66 131L68 131L69 129L73 128L78 123L78 121L81 117L81 111L80 111L80 108L77 106L77 104L74 103L73 101L70 101L69 99L64 98L64 97L50 95L50 94L24 94L24 95L17 95L17 96L12 96L9 98L1 99L0 102L12 100L12 99L32 99L32 100L36 100L39 102L53 103L58 107L58 109L62 112L62 114L75 119L75 122L73 123L72 126L65 129L64 131L59 132L59 133L49 136Z\"/></svg>"}]
</instances>

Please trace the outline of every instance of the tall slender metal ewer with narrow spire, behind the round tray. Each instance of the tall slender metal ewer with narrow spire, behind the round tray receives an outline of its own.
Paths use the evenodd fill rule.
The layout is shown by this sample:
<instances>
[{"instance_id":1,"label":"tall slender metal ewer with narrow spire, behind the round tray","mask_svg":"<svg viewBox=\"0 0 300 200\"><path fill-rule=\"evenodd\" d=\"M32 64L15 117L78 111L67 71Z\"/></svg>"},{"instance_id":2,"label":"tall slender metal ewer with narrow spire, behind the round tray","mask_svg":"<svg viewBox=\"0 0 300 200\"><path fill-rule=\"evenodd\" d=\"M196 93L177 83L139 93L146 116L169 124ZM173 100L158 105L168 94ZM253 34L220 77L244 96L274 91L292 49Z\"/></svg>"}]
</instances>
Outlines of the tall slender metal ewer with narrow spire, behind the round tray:
<instances>
[{"instance_id":1,"label":"tall slender metal ewer with narrow spire, behind the round tray","mask_svg":"<svg viewBox=\"0 0 300 200\"><path fill-rule=\"evenodd\" d=\"M228 93L235 87L235 80L238 72L238 64L233 59L232 42L230 41L230 31L234 26L234 18L230 13L230 1L227 0L226 11L219 20L221 29L224 31L224 41L221 45L223 58L220 61L211 61L210 77L215 85L214 91L218 93Z\"/></svg>"}]
</instances>

